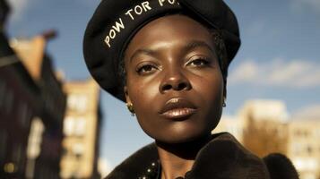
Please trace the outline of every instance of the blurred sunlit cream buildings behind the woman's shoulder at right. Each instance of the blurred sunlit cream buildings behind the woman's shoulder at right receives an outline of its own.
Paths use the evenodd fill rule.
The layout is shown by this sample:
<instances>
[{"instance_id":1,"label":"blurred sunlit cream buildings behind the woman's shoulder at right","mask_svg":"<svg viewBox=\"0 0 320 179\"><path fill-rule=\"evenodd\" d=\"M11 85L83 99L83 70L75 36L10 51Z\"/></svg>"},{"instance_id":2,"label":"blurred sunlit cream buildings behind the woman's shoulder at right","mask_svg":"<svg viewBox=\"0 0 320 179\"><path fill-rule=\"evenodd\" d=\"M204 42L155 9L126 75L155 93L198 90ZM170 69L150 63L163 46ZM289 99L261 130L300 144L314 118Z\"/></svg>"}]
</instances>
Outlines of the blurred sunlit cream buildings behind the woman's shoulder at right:
<instances>
[{"instance_id":1,"label":"blurred sunlit cream buildings behind the woman's shoulder at right","mask_svg":"<svg viewBox=\"0 0 320 179\"><path fill-rule=\"evenodd\" d=\"M280 152L301 179L320 178L320 118L292 118L279 100L250 100L236 116L222 116L213 132L231 132L246 149L264 157Z\"/></svg>"}]
</instances>

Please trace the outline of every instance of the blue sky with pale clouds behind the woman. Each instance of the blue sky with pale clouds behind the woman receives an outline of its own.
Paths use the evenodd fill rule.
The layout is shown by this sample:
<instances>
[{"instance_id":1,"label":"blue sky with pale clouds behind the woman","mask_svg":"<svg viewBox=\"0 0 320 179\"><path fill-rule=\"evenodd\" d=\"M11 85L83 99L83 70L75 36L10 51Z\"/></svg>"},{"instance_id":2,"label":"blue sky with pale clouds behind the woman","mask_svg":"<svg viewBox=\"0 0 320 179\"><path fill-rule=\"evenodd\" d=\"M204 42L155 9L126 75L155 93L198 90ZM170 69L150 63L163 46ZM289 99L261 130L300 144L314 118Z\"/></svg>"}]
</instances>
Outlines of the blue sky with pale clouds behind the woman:
<instances>
[{"instance_id":1,"label":"blue sky with pale clouds behind the woman","mask_svg":"<svg viewBox=\"0 0 320 179\"><path fill-rule=\"evenodd\" d=\"M320 1L226 0L236 13L242 46L230 64L227 107L236 115L246 100L278 99L292 118L320 119ZM99 0L9 0L6 28L13 37L32 37L54 29L48 43L56 69L66 81L90 74L82 57L82 37ZM103 125L100 156L112 168L151 142L125 104L101 91Z\"/></svg>"}]
</instances>

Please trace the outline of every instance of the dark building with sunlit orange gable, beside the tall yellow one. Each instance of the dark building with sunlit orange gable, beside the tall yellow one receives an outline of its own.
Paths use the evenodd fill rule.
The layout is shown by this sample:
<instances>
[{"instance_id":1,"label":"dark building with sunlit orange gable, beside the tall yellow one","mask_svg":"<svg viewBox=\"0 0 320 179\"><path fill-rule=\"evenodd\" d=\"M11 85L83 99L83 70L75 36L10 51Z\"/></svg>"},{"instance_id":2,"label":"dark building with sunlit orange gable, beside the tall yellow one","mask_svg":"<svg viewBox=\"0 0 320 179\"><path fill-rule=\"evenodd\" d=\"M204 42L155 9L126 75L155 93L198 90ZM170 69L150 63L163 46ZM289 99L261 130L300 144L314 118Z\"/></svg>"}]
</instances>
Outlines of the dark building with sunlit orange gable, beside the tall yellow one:
<instances>
[{"instance_id":1,"label":"dark building with sunlit orange gable, beside the tall yellow one","mask_svg":"<svg viewBox=\"0 0 320 179\"><path fill-rule=\"evenodd\" d=\"M11 41L16 54L22 59L31 78L39 87L40 99L39 118L31 127L31 137L39 138L41 142L30 141L28 177L59 178L60 157L62 155L63 118L65 115L65 92L62 81L59 81L46 46L50 38L55 37L54 31L48 31L34 38L20 38ZM39 120L40 119L40 120ZM40 124L39 124L40 123ZM39 132L40 126L42 132ZM38 132L38 133L37 133ZM31 145L39 145L32 147ZM32 150L39 149L38 156ZM33 155L32 155L33 154ZM35 172L36 171L36 172Z\"/></svg>"}]
</instances>

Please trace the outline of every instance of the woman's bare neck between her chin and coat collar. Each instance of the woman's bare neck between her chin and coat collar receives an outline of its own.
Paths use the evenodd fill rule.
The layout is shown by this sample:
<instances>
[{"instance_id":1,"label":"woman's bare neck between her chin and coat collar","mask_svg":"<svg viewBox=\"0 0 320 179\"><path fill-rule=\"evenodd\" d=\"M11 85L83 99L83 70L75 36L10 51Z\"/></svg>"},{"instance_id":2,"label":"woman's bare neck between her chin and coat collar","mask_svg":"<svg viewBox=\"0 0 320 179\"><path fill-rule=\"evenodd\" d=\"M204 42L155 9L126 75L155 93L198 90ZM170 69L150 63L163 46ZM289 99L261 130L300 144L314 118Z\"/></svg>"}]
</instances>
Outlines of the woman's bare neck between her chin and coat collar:
<instances>
[{"instance_id":1,"label":"woman's bare neck between her chin and coat collar","mask_svg":"<svg viewBox=\"0 0 320 179\"><path fill-rule=\"evenodd\" d=\"M195 157L199 150L210 141L211 135L199 140L168 144L156 141L160 163L162 166L161 179L176 179L185 177L187 171L191 170L195 163Z\"/></svg>"}]
</instances>

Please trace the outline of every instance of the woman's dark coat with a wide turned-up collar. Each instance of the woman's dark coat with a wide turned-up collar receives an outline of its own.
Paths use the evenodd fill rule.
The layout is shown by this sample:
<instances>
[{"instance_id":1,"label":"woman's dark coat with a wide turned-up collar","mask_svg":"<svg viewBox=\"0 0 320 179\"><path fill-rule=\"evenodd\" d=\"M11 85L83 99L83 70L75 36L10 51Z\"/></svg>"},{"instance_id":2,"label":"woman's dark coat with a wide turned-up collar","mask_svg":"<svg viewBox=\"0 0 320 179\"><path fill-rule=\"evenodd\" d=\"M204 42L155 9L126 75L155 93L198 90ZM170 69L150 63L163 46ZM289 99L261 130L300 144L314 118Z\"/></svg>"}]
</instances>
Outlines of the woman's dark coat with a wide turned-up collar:
<instances>
[{"instance_id":1,"label":"woman's dark coat with a wide turned-up collar","mask_svg":"<svg viewBox=\"0 0 320 179\"><path fill-rule=\"evenodd\" d=\"M106 179L138 179L148 175L159 161L156 145L151 143L135 152L117 166ZM153 165L151 165L153 163ZM150 172L150 171L149 171ZM157 178L147 176L145 178ZM297 179L298 173L290 160L281 154L258 158L245 149L231 134L212 135L212 141L201 149L186 179Z\"/></svg>"}]
</instances>

